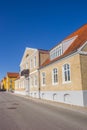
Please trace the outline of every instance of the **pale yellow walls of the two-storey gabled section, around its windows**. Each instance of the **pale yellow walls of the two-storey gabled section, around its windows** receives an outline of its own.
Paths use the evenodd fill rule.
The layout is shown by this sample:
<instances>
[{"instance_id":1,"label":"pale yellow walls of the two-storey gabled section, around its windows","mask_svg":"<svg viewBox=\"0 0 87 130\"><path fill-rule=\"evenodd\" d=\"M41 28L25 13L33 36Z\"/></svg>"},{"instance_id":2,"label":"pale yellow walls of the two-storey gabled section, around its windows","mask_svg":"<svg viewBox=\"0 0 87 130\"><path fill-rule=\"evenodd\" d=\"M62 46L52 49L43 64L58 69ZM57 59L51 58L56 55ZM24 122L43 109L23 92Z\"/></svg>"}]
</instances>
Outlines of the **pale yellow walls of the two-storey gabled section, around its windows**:
<instances>
[{"instance_id":1,"label":"pale yellow walls of the two-storey gabled section, around its windows","mask_svg":"<svg viewBox=\"0 0 87 130\"><path fill-rule=\"evenodd\" d=\"M29 55L29 57L26 57L27 55ZM34 66L34 57L36 57L36 66ZM26 50L24 56L23 56L23 59L22 59L22 62L20 64L20 67L23 69L26 69L26 63L28 63L28 69L29 69L29 84L30 84L30 91L38 91L39 89L39 71L38 71L38 68L41 64L43 64L43 62L45 60L47 60L47 58L49 57L49 54L44 51L39 51L37 49L29 49L29 50ZM32 67L30 67L30 62L31 62L31 59L32 59ZM33 85L31 86L31 77L33 79L33 82L34 82L34 77L37 76L37 86ZM22 88L22 81L26 79L22 79L22 76L20 77L20 88ZM17 85L18 82L15 81L15 84ZM33 83L34 84L34 83ZM17 85L18 86L18 85ZM25 85L26 87L26 85ZM20 90L20 89L17 89L16 90Z\"/></svg>"}]
</instances>

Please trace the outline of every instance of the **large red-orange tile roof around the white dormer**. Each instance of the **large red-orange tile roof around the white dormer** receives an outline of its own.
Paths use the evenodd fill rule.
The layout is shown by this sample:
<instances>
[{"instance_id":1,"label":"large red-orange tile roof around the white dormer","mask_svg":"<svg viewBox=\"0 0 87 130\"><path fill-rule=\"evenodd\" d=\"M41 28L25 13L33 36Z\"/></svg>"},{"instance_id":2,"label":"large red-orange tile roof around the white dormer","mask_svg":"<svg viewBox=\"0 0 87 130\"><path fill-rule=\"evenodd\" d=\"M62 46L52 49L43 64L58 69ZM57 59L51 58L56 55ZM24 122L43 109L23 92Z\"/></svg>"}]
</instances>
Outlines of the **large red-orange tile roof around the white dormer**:
<instances>
[{"instance_id":1,"label":"large red-orange tile roof around the white dormer","mask_svg":"<svg viewBox=\"0 0 87 130\"><path fill-rule=\"evenodd\" d=\"M51 61L50 61L50 59L47 59L41 65L41 67L44 67L44 66L46 66L50 63L53 63L56 60L59 60L59 59L65 57L65 56L77 51L77 49L79 49L87 41L87 24L85 24L84 26L82 26L81 28L79 28L78 30L73 32L72 34L70 34L64 40L68 40L68 39L70 39L74 36L77 36L77 38L75 39L75 41L67 48L67 50L61 56L59 56L59 57L57 57L57 58L55 58Z\"/></svg>"}]
</instances>

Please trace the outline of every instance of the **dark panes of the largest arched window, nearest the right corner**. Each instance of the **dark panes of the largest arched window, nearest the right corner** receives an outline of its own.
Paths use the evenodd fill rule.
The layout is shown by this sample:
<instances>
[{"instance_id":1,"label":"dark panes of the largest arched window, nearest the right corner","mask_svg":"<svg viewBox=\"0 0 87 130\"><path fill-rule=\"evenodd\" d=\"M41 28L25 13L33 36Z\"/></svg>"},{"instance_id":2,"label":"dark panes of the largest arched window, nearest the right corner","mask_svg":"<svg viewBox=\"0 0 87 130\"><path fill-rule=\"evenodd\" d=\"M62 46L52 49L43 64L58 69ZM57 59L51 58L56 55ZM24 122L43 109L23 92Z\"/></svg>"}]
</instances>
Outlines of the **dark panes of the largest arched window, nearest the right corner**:
<instances>
[{"instance_id":1,"label":"dark panes of the largest arched window, nearest the right corner","mask_svg":"<svg viewBox=\"0 0 87 130\"><path fill-rule=\"evenodd\" d=\"M63 77L64 77L64 82L68 82L70 81L70 65L69 64L65 64L63 66Z\"/></svg>"}]
</instances>

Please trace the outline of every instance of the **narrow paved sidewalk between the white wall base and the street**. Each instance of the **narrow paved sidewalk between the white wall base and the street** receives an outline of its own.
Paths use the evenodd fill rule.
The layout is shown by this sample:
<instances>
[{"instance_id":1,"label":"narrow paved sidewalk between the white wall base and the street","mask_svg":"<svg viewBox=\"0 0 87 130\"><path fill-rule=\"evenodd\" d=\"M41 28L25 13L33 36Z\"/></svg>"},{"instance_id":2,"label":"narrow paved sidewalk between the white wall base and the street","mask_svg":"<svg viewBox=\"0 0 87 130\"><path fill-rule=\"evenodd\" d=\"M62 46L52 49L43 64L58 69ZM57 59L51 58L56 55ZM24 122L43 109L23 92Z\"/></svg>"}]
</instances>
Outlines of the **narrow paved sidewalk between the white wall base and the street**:
<instances>
[{"instance_id":1,"label":"narrow paved sidewalk between the white wall base and the street","mask_svg":"<svg viewBox=\"0 0 87 130\"><path fill-rule=\"evenodd\" d=\"M75 105L71 105L71 104L65 104L65 103L60 103L60 102L55 102L55 101L50 101L50 100L45 100L45 99L38 99L38 98L33 98L33 97L30 97L30 96L20 95L20 94L15 94L15 93L12 93L12 95L29 99L29 100L31 100L35 103L47 104L47 105L51 105L51 106L54 106L54 107L58 107L60 109L61 108L68 109L68 110L71 110L71 111L80 112L80 113L87 115L87 107L75 106Z\"/></svg>"}]
</instances>

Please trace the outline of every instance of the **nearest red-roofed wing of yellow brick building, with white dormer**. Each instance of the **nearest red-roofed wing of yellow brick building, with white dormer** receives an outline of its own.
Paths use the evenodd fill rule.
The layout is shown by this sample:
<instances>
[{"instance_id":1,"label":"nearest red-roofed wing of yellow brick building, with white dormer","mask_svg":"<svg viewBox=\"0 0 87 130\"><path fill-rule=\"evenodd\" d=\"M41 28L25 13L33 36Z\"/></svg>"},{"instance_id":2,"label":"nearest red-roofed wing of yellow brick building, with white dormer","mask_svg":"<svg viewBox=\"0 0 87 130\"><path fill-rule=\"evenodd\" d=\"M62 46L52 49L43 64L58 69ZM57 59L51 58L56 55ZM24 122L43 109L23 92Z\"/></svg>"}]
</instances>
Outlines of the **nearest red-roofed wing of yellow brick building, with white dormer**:
<instances>
[{"instance_id":1,"label":"nearest red-roofed wing of yellow brick building, with white dormer","mask_svg":"<svg viewBox=\"0 0 87 130\"><path fill-rule=\"evenodd\" d=\"M39 68L42 99L87 106L87 24L50 51Z\"/></svg>"}]
</instances>

